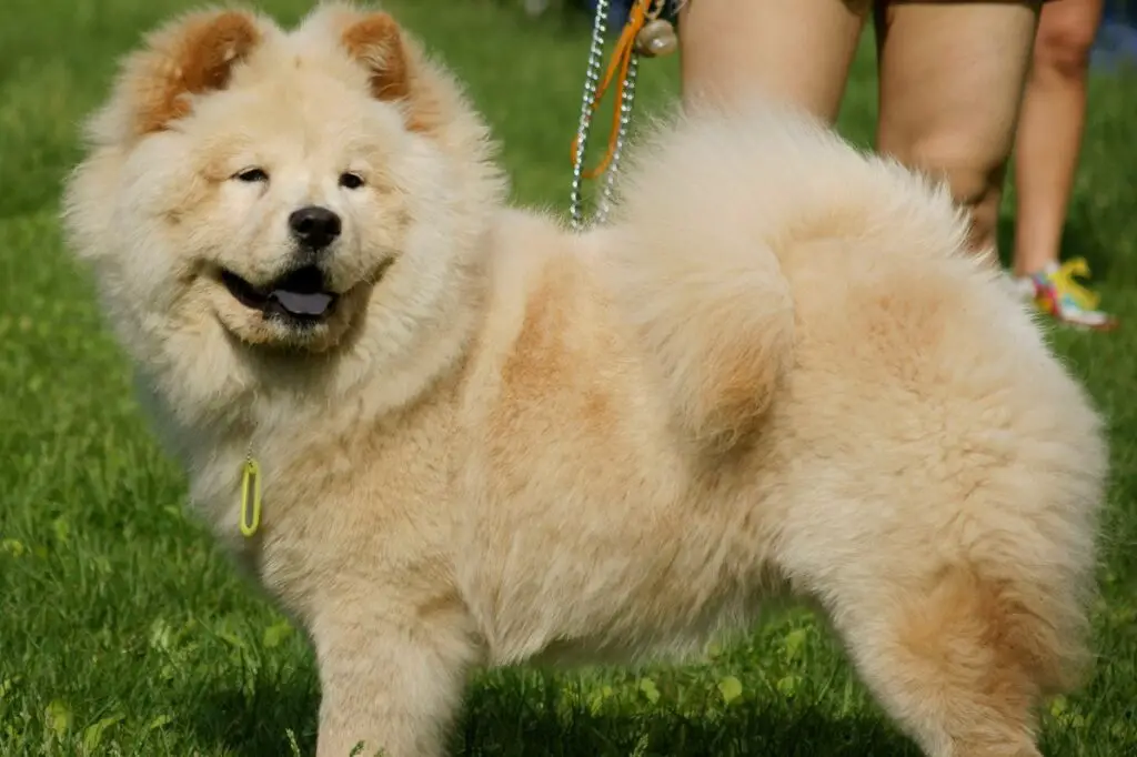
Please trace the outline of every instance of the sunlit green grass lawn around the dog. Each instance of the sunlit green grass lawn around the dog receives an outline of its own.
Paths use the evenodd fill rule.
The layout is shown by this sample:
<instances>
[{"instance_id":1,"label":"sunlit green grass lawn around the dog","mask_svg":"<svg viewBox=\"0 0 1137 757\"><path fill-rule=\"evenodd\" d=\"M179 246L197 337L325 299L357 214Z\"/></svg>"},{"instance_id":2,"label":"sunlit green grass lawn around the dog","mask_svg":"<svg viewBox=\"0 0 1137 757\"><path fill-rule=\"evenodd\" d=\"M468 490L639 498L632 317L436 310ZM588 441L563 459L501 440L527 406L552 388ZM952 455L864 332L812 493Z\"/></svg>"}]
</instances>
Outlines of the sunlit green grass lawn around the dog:
<instances>
[{"instance_id":1,"label":"sunlit green grass lawn around the dog","mask_svg":"<svg viewBox=\"0 0 1137 757\"><path fill-rule=\"evenodd\" d=\"M506 145L520 200L564 210L587 49L580 23L515 3L390 0L470 80ZM179 0L7 0L0 25L0 754L309 754L318 690L300 633L185 518L184 480L152 441L88 278L61 247L61 176L114 59ZM285 20L305 0L271 0ZM866 143L869 50L840 128ZM641 113L677 92L644 66ZM1093 85L1069 249L1137 321L1137 165L1130 77ZM1010 206L1009 206L1010 207ZM1010 230L1010 219L1007 227ZM1054 341L1112 424L1101 655L1054 702L1049 755L1137 754L1137 332ZM455 754L915 755L805 612L699 664L501 671L471 687Z\"/></svg>"}]
</instances>

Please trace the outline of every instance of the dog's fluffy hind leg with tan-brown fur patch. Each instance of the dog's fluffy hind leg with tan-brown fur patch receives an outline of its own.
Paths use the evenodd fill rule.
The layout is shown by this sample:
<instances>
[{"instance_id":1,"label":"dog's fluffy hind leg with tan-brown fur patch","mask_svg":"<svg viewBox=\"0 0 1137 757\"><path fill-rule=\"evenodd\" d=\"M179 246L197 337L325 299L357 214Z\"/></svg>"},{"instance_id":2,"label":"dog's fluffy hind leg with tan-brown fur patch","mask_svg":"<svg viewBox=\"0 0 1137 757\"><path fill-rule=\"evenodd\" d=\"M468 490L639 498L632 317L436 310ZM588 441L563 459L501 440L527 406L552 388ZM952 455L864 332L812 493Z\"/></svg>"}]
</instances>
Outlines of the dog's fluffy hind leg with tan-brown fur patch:
<instances>
[{"instance_id":1,"label":"dog's fluffy hind leg with tan-brown fur patch","mask_svg":"<svg viewBox=\"0 0 1137 757\"><path fill-rule=\"evenodd\" d=\"M935 546L902 543L880 535L844 555L839 542L815 544L837 564L805 583L861 679L929 757L1037 757L1036 708L1087 659L1076 544L1031 564L1030 548L945 561Z\"/></svg>"}]
</instances>

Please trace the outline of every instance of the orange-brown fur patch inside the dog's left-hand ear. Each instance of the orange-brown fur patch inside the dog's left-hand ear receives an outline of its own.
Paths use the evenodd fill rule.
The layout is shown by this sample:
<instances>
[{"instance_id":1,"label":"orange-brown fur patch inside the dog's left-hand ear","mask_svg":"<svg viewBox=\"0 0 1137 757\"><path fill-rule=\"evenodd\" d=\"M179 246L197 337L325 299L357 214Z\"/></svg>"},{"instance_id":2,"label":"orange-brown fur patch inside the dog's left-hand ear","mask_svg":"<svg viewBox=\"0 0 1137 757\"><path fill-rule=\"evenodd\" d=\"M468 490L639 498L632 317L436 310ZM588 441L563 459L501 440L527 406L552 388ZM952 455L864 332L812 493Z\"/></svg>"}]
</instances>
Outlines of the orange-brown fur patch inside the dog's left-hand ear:
<instances>
[{"instance_id":1,"label":"orange-brown fur patch inside the dog's left-hand ear","mask_svg":"<svg viewBox=\"0 0 1137 757\"><path fill-rule=\"evenodd\" d=\"M138 85L138 133L161 131L190 113L186 94L225 89L233 66L260 41L252 18L224 11L193 18L177 30L171 49Z\"/></svg>"}]
</instances>

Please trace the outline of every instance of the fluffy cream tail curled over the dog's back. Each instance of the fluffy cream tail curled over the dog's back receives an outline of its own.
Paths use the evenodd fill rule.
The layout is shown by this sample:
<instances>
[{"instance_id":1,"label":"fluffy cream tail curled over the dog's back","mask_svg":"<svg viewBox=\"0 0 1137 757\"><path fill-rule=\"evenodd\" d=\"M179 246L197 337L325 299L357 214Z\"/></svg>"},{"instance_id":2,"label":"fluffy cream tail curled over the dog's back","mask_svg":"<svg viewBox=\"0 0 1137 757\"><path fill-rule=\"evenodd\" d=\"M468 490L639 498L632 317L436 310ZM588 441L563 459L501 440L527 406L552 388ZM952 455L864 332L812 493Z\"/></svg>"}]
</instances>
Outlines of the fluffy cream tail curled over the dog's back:
<instances>
[{"instance_id":1,"label":"fluffy cream tail curled over the dog's back","mask_svg":"<svg viewBox=\"0 0 1137 757\"><path fill-rule=\"evenodd\" d=\"M877 257L929 259L964 246L941 182L853 149L805 114L756 97L688 106L652 131L630 156L600 247L616 300L696 439L729 443L777 401L800 336L792 282L819 265L811 244L875 250L883 238Z\"/></svg>"}]
</instances>

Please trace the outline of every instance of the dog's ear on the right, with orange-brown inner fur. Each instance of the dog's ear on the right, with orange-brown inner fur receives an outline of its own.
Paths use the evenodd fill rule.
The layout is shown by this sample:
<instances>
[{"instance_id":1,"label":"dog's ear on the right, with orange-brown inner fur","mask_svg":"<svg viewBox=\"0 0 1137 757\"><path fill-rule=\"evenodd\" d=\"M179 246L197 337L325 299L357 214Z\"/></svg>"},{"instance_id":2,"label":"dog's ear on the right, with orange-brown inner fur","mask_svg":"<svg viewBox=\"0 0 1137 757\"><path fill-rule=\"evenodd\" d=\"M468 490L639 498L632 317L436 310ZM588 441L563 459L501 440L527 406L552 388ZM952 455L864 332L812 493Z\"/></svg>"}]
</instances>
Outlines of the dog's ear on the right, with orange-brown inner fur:
<instances>
[{"instance_id":1,"label":"dog's ear on the right, with orange-brown inner fur","mask_svg":"<svg viewBox=\"0 0 1137 757\"><path fill-rule=\"evenodd\" d=\"M422 61L389 14L371 13L345 24L340 41L352 60L366 68L371 93L379 100L401 105L407 128L432 131L437 118L435 92L422 75Z\"/></svg>"}]
</instances>

